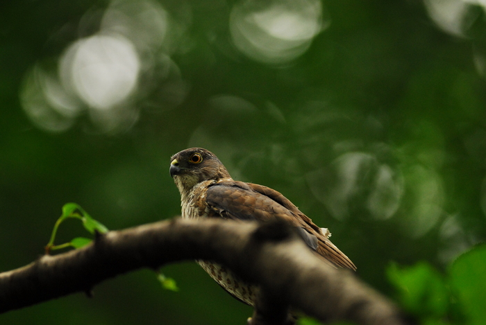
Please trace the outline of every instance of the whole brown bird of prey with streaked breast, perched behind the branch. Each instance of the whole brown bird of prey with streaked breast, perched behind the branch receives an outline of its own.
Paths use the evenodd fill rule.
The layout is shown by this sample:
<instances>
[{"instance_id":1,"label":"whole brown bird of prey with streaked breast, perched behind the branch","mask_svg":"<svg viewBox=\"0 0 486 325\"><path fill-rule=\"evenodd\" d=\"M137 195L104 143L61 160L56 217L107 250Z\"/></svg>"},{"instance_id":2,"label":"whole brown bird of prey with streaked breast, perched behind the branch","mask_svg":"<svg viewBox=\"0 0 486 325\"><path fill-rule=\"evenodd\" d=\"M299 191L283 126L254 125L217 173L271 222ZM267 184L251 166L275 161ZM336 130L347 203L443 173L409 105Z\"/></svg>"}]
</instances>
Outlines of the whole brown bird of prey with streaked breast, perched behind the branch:
<instances>
[{"instance_id":1,"label":"whole brown bird of prey with streaked breast, perched behind the branch","mask_svg":"<svg viewBox=\"0 0 486 325\"><path fill-rule=\"evenodd\" d=\"M170 175L181 193L183 218L258 221L283 218L296 227L305 243L324 261L335 267L356 269L353 262L330 242L328 229L317 227L279 192L233 180L212 152L190 148L176 153L171 157ZM254 306L257 286L244 283L231 270L217 263L198 263L233 297Z\"/></svg>"}]
</instances>

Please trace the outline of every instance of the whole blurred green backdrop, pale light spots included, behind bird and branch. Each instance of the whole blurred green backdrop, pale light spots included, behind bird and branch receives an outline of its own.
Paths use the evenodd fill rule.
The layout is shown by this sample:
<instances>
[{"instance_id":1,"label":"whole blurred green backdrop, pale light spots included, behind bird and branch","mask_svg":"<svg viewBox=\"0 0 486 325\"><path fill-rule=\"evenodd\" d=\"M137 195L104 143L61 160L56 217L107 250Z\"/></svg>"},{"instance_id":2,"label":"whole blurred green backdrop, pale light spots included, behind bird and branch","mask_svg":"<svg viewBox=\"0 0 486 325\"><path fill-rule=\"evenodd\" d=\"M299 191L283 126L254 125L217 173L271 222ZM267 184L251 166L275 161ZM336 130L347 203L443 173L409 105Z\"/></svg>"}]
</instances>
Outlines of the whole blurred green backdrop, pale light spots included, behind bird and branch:
<instances>
[{"instance_id":1,"label":"whole blurred green backdrop, pale light spots included, behind bird and branch","mask_svg":"<svg viewBox=\"0 0 486 325\"><path fill-rule=\"evenodd\" d=\"M447 265L486 238L486 24L450 2L2 1L0 271L42 254L65 202L110 229L178 215L169 157L201 146L328 227L374 288L426 261L389 271L404 306L449 322L456 297L478 324L477 251ZM142 270L0 323L251 315L194 263L163 272L179 292Z\"/></svg>"}]
</instances>

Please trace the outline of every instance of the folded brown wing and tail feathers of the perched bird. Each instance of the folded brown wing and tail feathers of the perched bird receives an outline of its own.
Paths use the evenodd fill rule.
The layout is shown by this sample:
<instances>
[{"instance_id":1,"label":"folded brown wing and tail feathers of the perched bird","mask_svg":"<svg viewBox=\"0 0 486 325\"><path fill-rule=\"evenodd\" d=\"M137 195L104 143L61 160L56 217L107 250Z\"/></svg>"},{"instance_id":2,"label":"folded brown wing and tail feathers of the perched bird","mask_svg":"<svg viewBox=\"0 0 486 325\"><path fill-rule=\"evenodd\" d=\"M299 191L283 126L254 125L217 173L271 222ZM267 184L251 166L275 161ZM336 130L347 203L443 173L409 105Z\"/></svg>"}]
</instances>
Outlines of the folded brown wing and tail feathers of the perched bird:
<instances>
[{"instance_id":1,"label":"folded brown wing and tail feathers of the perched bird","mask_svg":"<svg viewBox=\"0 0 486 325\"><path fill-rule=\"evenodd\" d=\"M308 216L278 191L258 184L228 181L208 188L206 202L221 218L265 221L283 218L298 227L310 247L335 266L356 270L344 255Z\"/></svg>"}]
</instances>

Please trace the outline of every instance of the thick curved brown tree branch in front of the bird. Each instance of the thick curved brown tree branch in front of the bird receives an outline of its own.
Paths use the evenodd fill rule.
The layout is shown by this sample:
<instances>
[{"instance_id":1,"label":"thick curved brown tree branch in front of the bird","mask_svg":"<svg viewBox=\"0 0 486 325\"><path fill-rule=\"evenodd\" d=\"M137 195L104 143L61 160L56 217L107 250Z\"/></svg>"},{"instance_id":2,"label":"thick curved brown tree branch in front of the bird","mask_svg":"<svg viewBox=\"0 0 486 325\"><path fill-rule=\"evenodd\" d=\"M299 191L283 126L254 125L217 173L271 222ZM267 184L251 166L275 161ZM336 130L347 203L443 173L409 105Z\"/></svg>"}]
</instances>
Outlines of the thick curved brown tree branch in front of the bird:
<instances>
[{"instance_id":1,"label":"thick curved brown tree branch in front of the bird","mask_svg":"<svg viewBox=\"0 0 486 325\"><path fill-rule=\"evenodd\" d=\"M225 220L173 219L110 231L81 249L44 255L0 273L0 313L90 292L101 281L141 267L155 269L195 258L224 264L245 281L260 284L265 293L258 299L254 324L281 324L287 306L324 322L409 324L395 306L351 272L321 261L282 222ZM269 297L278 297L278 304Z\"/></svg>"}]
</instances>

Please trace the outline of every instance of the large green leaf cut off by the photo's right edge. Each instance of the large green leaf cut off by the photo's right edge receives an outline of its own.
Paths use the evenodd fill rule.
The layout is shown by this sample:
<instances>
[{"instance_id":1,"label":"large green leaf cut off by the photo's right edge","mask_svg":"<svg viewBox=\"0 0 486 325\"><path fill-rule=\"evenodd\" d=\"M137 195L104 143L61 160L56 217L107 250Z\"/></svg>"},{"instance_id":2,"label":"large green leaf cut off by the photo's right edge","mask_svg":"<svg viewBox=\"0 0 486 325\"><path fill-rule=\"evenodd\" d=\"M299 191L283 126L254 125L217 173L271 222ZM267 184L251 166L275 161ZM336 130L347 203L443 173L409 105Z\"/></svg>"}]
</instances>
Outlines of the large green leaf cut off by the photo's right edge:
<instances>
[{"instance_id":1,"label":"large green leaf cut off by the photo's right edge","mask_svg":"<svg viewBox=\"0 0 486 325\"><path fill-rule=\"evenodd\" d=\"M486 245L462 254L451 265L450 283L458 294L467 324L485 324L486 319Z\"/></svg>"}]
</instances>

